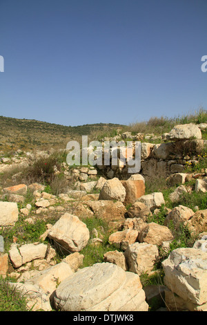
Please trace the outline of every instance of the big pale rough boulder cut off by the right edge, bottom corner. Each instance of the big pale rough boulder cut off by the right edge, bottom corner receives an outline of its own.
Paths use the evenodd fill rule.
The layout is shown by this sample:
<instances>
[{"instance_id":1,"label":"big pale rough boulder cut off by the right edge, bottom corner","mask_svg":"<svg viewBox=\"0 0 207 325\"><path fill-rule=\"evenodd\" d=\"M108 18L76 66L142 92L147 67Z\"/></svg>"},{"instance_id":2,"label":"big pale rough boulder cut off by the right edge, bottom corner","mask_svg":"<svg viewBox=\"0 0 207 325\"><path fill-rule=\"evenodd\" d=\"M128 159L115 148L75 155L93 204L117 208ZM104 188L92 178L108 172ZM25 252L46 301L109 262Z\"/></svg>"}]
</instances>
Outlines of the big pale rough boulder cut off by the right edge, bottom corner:
<instances>
[{"instance_id":1,"label":"big pale rough boulder cut off by the right edge, bottom corner","mask_svg":"<svg viewBox=\"0 0 207 325\"><path fill-rule=\"evenodd\" d=\"M207 302L207 253L177 248L162 262L164 283L184 301L201 306Z\"/></svg>"}]
</instances>

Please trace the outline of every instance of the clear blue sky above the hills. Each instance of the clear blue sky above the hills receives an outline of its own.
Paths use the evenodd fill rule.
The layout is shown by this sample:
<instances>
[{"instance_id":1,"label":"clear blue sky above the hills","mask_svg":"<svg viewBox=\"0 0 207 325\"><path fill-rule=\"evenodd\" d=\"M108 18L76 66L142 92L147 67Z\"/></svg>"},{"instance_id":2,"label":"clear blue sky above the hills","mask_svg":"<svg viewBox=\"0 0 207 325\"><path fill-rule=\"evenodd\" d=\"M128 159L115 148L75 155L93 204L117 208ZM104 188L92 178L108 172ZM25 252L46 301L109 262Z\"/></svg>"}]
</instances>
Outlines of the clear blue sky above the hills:
<instances>
[{"instance_id":1,"label":"clear blue sky above the hills","mask_svg":"<svg viewBox=\"0 0 207 325\"><path fill-rule=\"evenodd\" d=\"M130 124L207 109L206 0L0 0L0 115Z\"/></svg>"}]
</instances>

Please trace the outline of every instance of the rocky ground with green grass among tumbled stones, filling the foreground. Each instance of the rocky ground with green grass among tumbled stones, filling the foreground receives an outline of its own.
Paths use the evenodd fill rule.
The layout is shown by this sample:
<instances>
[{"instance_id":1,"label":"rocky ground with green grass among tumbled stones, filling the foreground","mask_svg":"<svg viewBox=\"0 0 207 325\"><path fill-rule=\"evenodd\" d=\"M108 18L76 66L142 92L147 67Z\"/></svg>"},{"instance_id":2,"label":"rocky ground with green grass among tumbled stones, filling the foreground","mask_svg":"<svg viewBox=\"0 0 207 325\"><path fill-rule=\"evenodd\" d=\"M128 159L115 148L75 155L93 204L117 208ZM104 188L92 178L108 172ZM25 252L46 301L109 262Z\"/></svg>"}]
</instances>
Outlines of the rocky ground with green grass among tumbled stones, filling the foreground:
<instances>
[{"instance_id":1,"label":"rocky ground with green grass among tumbled stones, filling the foreground","mask_svg":"<svg viewBox=\"0 0 207 325\"><path fill-rule=\"evenodd\" d=\"M162 166L184 167L166 175L170 205L161 191L146 194L141 172L124 171L119 179L111 172L107 177L109 169L100 174L97 167L70 168L64 160L48 169L50 152L1 152L0 275L28 297L28 308L207 310L207 207L180 201L184 194L206 200L207 169L189 167L193 160L193 166L204 163L205 154L200 160L197 152L189 158L179 152L171 164L165 156L167 144L200 141L201 131L178 126L164 138L170 142L161 149L144 142L142 158L148 152L143 162L150 164L158 150ZM188 236L189 247L179 235ZM157 284L145 286L144 276L156 277Z\"/></svg>"}]
</instances>

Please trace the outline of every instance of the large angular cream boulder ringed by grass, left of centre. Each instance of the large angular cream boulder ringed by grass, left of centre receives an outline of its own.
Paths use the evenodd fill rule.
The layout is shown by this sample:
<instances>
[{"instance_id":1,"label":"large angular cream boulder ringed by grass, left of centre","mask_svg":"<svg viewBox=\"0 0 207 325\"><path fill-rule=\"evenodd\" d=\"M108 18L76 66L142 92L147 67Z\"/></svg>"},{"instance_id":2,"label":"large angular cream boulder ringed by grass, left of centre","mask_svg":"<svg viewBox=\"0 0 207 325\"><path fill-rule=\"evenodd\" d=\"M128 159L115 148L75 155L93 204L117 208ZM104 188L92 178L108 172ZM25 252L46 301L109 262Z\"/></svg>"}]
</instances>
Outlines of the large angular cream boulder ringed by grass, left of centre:
<instances>
[{"instance_id":1,"label":"large angular cream boulder ringed by grass, left of centre","mask_svg":"<svg viewBox=\"0 0 207 325\"><path fill-rule=\"evenodd\" d=\"M50 228L48 236L70 253L82 250L88 243L90 233L77 216L66 213Z\"/></svg>"}]
</instances>

